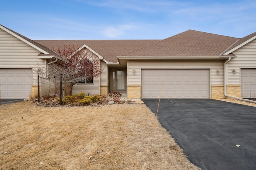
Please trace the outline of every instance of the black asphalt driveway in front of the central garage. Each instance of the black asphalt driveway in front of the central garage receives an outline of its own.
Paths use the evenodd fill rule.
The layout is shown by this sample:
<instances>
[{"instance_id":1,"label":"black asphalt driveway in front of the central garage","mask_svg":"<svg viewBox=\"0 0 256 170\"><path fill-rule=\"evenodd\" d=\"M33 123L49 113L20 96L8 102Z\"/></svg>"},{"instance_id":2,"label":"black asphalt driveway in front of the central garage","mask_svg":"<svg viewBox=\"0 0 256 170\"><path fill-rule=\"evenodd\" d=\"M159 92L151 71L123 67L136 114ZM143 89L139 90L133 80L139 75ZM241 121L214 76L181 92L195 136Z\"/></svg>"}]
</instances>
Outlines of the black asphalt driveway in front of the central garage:
<instances>
[{"instance_id":1,"label":"black asphalt driveway in front of the central garage","mask_svg":"<svg viewBox=\"0 0 256 170\"><path fill-rule=\"evenodd\" d=\"M156 113L159 99L143 101ZM256 169L256 107L211 99L161 99L157 117L202 170Z\"/></svg>"}]
</instances>

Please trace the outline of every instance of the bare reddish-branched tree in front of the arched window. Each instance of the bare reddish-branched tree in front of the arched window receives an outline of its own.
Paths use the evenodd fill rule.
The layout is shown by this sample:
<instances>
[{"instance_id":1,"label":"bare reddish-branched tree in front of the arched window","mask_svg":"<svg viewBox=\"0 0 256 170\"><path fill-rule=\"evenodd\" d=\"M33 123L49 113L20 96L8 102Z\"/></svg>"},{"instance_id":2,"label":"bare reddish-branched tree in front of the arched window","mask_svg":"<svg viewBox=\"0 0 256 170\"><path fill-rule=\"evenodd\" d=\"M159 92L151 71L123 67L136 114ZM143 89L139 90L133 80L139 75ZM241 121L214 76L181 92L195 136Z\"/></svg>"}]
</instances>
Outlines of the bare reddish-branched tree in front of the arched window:
<instances>
[{"instance_id":1,"label":"bare reddish-branched tree in front of the arched window","mask_svg":"<svg viewBox=\"0 0 256 170\"><path fill-rule=\"evenodd\" d=\"M62 88L70 87L70 95L72 95L75 84L92 81L102 73L99 58L86 48L70 44L54 49L54 51L60 55L62 61L48 65L48 78L62 75Z\"/></svg>"}]
</instances>

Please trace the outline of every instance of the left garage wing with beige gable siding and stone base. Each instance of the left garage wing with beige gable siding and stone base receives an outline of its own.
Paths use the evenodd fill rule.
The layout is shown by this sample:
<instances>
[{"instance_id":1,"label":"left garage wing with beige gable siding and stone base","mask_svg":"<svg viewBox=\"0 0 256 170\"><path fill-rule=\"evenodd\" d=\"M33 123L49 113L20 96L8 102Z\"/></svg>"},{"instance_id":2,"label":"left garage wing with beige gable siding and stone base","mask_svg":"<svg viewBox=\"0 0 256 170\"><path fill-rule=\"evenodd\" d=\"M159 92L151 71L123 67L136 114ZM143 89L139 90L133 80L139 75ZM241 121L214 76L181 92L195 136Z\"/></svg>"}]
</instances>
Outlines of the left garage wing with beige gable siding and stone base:
<instances>
[{"instance_id":1,"label":"left garage wing with beige gable siding and stone base","mask_svg":"<svg viewBox=\"0 0 256 170\"><path fill-rule=\"evenodd\" d=\"M0 25L0 97L37 95L38 69L46 69L47 63L56 59L60 56L48 47Z\"/></svg>"}]
</instances>

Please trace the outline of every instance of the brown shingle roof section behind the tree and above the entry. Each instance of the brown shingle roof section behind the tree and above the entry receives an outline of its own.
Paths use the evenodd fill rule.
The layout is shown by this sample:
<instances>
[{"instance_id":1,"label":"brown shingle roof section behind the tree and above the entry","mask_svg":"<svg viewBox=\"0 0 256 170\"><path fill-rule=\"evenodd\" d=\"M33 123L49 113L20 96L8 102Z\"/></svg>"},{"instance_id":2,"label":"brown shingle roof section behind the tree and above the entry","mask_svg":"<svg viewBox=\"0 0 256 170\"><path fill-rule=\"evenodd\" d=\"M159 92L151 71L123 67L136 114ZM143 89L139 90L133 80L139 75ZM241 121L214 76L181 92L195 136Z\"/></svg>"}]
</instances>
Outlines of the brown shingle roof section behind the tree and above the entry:
<instances>
[{"instance_id":1,"label":"brown shingle roof section behind the tree and above the entry","mask_svg":"<svg viewBox=\"0 0 256 170\"><path fill-rule=\"evenodd\" d=\"M102 56L109 63L118 63L116 56L122 55L150 45L159 40L35 40L36 42L54 50L58 47L64 47L64 45L78 45L82 47L86 45L91 51L93 50L98 55Z\"/></svg>"}]
</instances>

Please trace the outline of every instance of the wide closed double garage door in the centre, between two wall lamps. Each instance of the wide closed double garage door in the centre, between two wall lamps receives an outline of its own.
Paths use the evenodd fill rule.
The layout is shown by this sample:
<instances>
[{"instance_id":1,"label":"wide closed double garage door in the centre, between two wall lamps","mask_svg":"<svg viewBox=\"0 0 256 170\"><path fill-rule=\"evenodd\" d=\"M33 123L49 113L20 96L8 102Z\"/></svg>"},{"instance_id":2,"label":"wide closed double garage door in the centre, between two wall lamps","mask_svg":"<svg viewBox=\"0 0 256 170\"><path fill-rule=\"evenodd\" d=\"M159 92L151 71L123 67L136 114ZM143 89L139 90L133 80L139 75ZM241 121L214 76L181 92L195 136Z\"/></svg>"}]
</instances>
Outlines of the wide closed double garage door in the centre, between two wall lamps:
<instances>
[{"instance_id":1,"label":"wide closed double garage door in the centre, between two wall lamps","mask_svg":"<svg viewBox=\"0 0 256 170\"><path fill-rule=\"evenodd\" d=\"M142 98L210 98L209 69L142 69Z\"/></svg>"}]
</instances>

